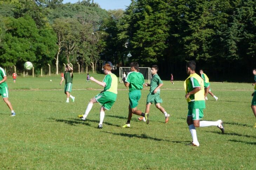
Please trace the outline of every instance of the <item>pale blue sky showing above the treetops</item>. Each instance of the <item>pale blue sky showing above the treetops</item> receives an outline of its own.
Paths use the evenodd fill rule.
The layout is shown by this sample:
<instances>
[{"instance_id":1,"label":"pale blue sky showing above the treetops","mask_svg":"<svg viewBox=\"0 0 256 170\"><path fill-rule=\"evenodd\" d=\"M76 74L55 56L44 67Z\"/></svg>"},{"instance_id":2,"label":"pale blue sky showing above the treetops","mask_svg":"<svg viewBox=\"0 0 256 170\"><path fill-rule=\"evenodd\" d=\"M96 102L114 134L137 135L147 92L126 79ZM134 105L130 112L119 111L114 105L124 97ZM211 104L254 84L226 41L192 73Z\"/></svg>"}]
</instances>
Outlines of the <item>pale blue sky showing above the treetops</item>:
<instances>
[{"instance_id":1,"label":"pale blue sky showing above the treetops","mask_svg":"<svg viewBox=\"0 0 256 170\"><path fill-rule=\"evenodd\" d=\"M82 1L82 0L80 0ZM76 3L78 0L63 0L62 3ZM99 3L100 7L106 10L109 9L125 9L126 6L130 5L131 0L94 0Z\"/></svg>"}]
</instances>

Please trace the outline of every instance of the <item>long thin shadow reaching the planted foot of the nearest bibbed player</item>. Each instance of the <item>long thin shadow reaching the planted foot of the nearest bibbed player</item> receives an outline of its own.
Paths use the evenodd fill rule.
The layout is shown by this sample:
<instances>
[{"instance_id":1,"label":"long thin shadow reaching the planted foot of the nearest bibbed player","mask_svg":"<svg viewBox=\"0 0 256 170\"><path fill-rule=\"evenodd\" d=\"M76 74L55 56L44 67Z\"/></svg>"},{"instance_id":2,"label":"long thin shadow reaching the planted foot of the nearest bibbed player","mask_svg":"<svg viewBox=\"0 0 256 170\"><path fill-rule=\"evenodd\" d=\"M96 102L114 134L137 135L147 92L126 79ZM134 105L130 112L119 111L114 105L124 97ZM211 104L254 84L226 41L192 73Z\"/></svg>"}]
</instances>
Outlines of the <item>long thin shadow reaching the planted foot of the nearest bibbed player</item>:
<instances>
[{"instance_id":1,"label":"long thin shadow reaching the planted foot of the nearest bibbed player","mask_svg":"<svg viewBox=\"0 0 256 170\"><path fill-rule=\"evenodd\" d=\"M172 142L172 143L188 143L188 142L190 142L190 141L170 141L170 140L165 140L165 139L152 138L150 136L147 136L146 134L139 135L139 134L113 133L113 132L104 132L104 133L124 136L124 137L128 137L128 138L151 139L151 140L155 140L155 141L165 141L165 142Z\"/></svg>"}]
</instances>

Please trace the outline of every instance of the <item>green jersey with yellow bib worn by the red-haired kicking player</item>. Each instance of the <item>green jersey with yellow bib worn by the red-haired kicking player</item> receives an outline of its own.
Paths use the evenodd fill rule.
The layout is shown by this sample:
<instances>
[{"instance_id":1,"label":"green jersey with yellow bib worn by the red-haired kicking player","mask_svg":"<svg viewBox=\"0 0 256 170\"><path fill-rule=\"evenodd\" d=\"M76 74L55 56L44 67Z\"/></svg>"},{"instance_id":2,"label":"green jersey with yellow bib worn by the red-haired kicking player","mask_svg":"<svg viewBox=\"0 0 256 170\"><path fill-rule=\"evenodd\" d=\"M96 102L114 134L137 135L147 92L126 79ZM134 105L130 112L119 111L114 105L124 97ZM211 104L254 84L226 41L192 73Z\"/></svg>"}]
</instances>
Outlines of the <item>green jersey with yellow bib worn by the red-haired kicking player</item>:
<instances>
[{"instance_id":1,"label":"green jersey with yellow bib worn by the red-haired kicking player","mask_svg":"<svg viewBox=\"0 0 256 170\"><path fill-rule=\"evenodd\" d=\"M111 100L116 101L117 96L117 77L115 74L107 74L103 82L106 83L106 86L104 87L104 94Z\"/></svg>"}]
</instances>

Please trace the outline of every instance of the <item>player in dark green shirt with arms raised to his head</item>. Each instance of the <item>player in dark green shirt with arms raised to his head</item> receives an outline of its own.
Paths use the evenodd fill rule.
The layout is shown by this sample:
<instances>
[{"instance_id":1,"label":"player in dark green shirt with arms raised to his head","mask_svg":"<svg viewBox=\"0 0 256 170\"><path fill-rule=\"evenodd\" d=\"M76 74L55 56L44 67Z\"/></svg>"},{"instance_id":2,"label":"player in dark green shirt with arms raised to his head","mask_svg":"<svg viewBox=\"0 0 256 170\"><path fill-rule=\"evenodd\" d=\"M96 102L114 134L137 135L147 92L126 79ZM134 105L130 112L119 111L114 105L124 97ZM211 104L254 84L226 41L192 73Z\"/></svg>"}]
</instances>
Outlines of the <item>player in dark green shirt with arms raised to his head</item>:
<instances>
[{"instance_id":1,"label":"player in dark green shirt with arms raised to his head","mask_svg":"<svg viewBox=\"0 0 256 170\"><path fill-rule=\"evenodd\" d=\"M66 103L69 103L69 97L72 98L72 101L75 101L75 97L70 95L72 91L72 82L73 82L73 68L69 66L69 64L65 67L64 77L61 78L60 85L65 79L65 87L64 87L64 93L67 95Z\"/></svg>"}]
</instances>

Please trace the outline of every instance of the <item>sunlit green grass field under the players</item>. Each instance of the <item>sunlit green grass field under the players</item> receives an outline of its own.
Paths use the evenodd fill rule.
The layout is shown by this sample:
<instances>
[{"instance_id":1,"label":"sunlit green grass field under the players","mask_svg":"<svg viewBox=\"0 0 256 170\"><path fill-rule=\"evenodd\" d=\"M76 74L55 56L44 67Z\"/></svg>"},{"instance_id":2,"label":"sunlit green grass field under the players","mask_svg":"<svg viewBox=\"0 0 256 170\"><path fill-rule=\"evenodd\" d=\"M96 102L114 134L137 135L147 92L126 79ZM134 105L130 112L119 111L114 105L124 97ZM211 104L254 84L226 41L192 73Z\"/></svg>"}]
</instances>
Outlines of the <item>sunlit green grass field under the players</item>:
<instances>
[{"instance_id":1,"label":"sunlit green grass field under the players","mask_svg":"<svg viewBox=\"0 0 256 170\"><path fill-rule=\"evenodd\" d=\"M101 130L97 129L99 104L94 104L86 121L77 116L103 88L86 83L85 74L75 74L71 93L75 102L65 103L64 84L59 82L60 76L53 75L18 77L14 84L8 76L16 116L10 117L7 105L0 102L0 169L256 169L256 121L249 83L211 83L219 99L208 96L203 120L222 119L225 134L213 126L197 128L200 147L189 147L185 146L191 135L183 82L164 81L161 97L171 114L168 124L152 105L150 123L139 122L134 115L132 128L121 128L129 100L127 88L119 83L117 101L106 111ZM142 90L138 106L142 111L148 90Z\"/></svg>"}]
</instances>

